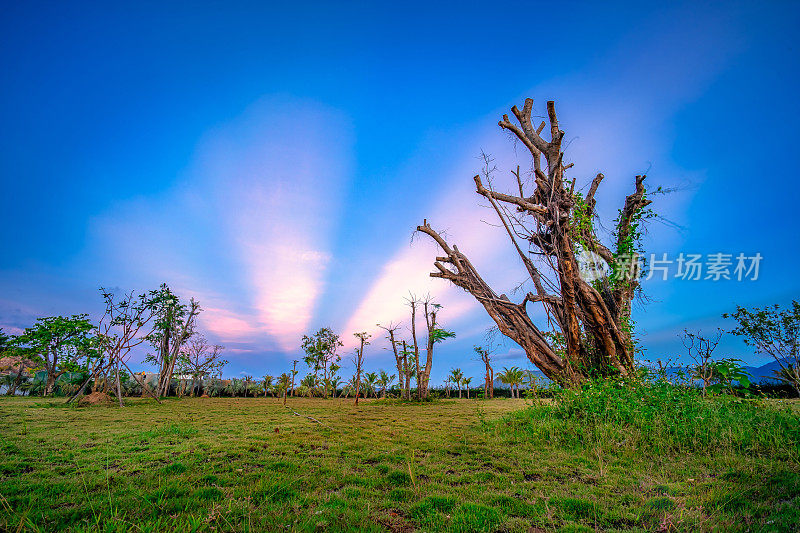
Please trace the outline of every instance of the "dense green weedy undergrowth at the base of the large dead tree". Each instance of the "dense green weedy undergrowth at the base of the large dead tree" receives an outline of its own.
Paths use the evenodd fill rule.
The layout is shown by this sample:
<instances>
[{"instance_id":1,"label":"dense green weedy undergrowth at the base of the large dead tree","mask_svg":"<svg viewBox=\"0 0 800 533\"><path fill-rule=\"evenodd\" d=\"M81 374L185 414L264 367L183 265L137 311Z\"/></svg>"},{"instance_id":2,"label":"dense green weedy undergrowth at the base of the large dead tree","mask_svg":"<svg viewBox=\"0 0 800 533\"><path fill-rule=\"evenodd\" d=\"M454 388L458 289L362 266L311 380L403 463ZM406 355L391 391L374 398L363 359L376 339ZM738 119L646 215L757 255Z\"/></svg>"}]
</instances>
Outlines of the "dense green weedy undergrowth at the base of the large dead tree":
<instances>
[{"instance_id":1,"label":"dense green weedy undergrowth at the base of the large dead tree","mask_svg":"<svg viewBox=\"0 0 800 533\"><path fill-rule=\"evenodd\" d=\"M600 446L679 453L722 451L793 457L800 445L797 416L766 400L728 395L703 398L669 383L591 382L559 390L506 418L518 438L563 446Z\"/></svg>"}]
</instances>

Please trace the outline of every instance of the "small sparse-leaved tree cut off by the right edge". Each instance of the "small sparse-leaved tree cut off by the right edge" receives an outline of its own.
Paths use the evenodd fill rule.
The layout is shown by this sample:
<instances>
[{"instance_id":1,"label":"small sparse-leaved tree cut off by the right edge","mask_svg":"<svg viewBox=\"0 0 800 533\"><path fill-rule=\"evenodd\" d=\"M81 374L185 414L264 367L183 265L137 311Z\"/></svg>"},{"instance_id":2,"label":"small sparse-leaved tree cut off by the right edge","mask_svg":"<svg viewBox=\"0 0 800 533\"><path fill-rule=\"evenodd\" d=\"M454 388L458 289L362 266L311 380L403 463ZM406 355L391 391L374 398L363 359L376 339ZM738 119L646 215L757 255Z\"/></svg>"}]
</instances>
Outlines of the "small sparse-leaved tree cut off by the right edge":
<instances>
[{"instance_id":1,"label":"small sparse-leaved tree cut off by the right edge","mask_svg":"<svg viewBox=\"0 0 800 533\"><path fill-rule=\"evenodd\" d=\"M779 379L800 394L800 303L793 300L788 309L778 305L752 310L737 306L735 313L722 316L736 320L739 326L731 333L757 353L771 355L780 365Z\"/></svg>"}]
</instances>

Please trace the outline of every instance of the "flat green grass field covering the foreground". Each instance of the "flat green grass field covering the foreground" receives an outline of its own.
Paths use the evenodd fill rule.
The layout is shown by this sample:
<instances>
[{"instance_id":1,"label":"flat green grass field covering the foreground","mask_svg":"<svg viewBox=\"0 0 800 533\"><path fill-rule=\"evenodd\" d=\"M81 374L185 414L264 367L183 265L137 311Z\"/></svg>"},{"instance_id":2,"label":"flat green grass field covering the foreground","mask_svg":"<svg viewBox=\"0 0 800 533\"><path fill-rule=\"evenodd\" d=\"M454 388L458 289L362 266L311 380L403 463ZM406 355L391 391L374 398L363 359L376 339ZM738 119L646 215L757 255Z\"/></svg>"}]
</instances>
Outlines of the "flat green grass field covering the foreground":
<instances>
[{"instance_id":1,"label":"flat green grass field covering the foreground","mask_svg":"<svg viewBox=\"0 0 800 533\"><path fill-rule=\"evenodd\" d=\"M61 402L0 398L2 530L789 531L800 523L792 446L655 452L619 435L569 444L521 429L544 423L519 412L525 400L355 408L293 398L291 409L272 398L133 399L124 409Z\"/></svg>"}]
</instances>

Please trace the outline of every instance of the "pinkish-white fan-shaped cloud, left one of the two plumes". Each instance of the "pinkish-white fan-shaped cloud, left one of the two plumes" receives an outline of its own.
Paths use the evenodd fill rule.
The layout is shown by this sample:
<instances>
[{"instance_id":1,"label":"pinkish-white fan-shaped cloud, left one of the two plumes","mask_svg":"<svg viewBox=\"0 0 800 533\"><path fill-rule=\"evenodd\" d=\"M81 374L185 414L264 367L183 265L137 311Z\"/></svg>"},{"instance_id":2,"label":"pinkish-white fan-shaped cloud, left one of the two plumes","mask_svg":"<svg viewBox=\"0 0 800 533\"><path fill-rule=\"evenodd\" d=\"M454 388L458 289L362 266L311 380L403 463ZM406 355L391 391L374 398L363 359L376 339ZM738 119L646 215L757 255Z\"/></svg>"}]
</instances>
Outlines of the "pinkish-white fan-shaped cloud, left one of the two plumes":
<instances>
[{"instance_id":1,"label":"pinkish-white fan-shaped cloud, left one of the two plumes","mask_svg":"<svg viewBox=\"0 0 800 533\"><path fill-rule=\"evenodd\" d=\"M220 341L296 348L332 257L349 129L313 102L259 101L210 131L169 191L98 217L95 253L126 285L166 280L196 296Z\"/></svg>"}]
</instances>

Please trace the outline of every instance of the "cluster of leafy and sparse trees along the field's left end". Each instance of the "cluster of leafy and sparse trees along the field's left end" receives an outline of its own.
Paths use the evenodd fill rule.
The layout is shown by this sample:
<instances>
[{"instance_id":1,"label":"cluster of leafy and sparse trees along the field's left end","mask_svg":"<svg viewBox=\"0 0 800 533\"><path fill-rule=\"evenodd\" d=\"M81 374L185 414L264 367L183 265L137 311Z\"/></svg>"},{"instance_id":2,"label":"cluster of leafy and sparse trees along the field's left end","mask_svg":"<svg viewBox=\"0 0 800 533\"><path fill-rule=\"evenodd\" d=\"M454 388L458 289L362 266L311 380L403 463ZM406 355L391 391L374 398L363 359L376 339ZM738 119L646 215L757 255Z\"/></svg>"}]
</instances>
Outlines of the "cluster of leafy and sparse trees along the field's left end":
<instances>
[{"instance_id":1,"label":"cluster of leafy and sparse trees along the field's left end","mask_svg":"<svg viewBox=\"0 0 800 533\"><path fill-rule=\"evenodd\" d=\"M175 375L195 382L221 375L223 347L210 345L197 330L202 312L194 298L181 301L162 284L143 293L100 289L105 304L97 323L87 314L44 317L20 335L0 331L0 372L6 394L43 396L113 393L120 405L138 391L154 398L175 391ZM146 362L158 368L149 386L128 366L133 349L148 345Z\"/></svg>"}]
</instances>

